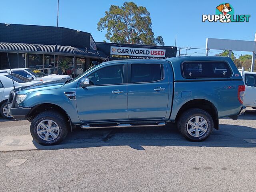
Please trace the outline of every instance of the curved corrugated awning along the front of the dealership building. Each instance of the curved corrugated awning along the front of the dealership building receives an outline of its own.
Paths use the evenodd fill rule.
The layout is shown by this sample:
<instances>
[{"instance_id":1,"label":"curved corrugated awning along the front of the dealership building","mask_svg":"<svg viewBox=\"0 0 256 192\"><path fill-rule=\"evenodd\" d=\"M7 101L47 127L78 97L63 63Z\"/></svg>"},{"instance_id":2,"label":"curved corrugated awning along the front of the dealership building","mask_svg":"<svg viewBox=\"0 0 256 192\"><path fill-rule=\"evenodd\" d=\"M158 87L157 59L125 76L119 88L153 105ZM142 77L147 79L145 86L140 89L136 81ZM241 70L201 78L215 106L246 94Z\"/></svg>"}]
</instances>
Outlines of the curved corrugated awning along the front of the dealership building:
<instances>
[{"instance_id":1,"label":"curved corrugated awning along the front of the dealership building","mask_svg":"<svg viewBox=\"0 0 256 192\"><path fill-rule=\"evenodd\" d=\"M106 54L101 51L75 48L62 45L42 45L28 43L6 43L0 42L0 52L56 54L65 56L78 56L105 59Z\"/></svg>"}]
</instances>

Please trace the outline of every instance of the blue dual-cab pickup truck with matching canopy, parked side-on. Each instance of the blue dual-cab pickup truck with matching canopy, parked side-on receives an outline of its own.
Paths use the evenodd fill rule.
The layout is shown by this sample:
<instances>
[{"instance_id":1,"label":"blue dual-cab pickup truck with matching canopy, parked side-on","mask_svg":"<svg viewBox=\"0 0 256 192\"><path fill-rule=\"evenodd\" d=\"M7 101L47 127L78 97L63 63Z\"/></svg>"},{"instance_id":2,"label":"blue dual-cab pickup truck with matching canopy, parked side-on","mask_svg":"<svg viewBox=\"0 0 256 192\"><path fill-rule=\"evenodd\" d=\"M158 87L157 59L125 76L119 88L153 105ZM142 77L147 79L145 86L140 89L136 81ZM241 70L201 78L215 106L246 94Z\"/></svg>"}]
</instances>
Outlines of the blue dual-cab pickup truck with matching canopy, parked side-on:
<instances>
[{"instance_id":1,"label":"blue dual-cab pickup truck with matching canopy, parked side-on","mask_svg":"<svg viewBox=\"0 0 256 192\"><path fill-rule=\"evenodd\" d=\"M177 122L188 140L208 138L218 119L243 114L245 86L228 57L187 56L164 60L115 60L72 80L12 90L8 110L31 122L42 145L64 140L80 126L123 128Z\"/></svg>"}]
</instances>

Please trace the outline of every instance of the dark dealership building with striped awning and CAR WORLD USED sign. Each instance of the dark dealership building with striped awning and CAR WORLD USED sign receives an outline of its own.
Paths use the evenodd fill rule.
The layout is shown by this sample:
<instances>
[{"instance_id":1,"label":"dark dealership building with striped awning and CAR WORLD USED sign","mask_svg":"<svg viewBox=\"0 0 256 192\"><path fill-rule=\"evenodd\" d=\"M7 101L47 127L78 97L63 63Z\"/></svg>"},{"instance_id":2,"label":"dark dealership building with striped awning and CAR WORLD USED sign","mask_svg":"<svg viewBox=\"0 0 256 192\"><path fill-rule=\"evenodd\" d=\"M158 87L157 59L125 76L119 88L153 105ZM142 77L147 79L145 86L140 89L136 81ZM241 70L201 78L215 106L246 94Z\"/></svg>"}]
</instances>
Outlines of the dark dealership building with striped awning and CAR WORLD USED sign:
<instances>
[{"instance_id":1,"label":"dark dealership building with striped awning and CAR WORLD USED sign","mask_svg":"<svg viewBox=\"0 0 256 192\"><path fill-rule=\"evenodd\" d=\"M92 61L164 59L176 56L177 47L95 42L88 32L53 26L0 24L0 69L33 67L48 74L76 76ZM8 57L7 57L8 53Z\"/></svg>"}]
</instances>

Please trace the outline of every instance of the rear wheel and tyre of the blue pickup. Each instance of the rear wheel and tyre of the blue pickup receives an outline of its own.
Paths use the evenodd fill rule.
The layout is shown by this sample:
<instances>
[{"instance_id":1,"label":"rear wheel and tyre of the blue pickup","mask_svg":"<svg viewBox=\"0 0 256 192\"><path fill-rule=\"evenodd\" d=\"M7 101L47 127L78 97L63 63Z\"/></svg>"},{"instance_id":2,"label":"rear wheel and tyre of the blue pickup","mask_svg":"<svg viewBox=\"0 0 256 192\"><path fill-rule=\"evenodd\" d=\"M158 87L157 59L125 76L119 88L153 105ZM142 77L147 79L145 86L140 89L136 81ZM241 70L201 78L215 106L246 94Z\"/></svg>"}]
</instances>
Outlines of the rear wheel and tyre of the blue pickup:
<instances>
[{"instance_id":1,"label":"rear wheel and tyre of the blue pickup","mask_svg":"<svg viewBox=\"0 0 256 192\"><path fill-rule=\"evenodd\" d=\"M213 130L213 119L208 112L192 108L186 110L178 120L180 133L190 141L203 141Z\"/></svg>"}]
</instances>

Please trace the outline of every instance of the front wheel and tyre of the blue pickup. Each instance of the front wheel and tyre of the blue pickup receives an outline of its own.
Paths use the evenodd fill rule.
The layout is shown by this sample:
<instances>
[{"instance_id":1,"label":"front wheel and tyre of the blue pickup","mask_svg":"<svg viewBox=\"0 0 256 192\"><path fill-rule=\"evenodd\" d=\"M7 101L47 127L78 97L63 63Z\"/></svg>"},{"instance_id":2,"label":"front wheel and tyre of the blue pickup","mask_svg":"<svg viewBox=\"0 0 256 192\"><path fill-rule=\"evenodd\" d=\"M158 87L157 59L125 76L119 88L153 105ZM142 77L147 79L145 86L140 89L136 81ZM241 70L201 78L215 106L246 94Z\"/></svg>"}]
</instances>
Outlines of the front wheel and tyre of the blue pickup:
<instances>
[{"instance_id":1,"label":"front wheel and tyre of the blue pickup","mask_svg":"<svg viewBox=\"0 0 256 192\"><path fill-rule=\"evenodd\" d=\"M45 111L32 120L30 133L33 139L41 145L55 145L66 138L68 123L58 112Z\"/></svg>"}]
</instances>

